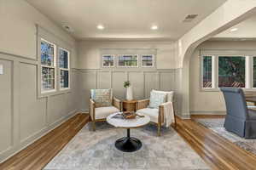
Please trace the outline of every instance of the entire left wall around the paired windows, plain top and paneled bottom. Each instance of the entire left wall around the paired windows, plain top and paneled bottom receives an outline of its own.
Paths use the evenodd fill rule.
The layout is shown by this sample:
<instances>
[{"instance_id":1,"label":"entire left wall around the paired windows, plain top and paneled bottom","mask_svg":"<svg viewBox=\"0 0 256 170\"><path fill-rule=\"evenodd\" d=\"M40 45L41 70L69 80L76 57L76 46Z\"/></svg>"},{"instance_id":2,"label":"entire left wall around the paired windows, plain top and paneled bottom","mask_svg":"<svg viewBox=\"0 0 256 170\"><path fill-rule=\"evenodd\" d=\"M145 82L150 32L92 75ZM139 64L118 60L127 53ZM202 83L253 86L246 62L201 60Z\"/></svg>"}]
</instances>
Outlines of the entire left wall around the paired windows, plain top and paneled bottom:
<instances>
[{"instance_id":1,"label":"entire left wall around the paired windows, plain top and paneled bottom","mask_svg":"<svg viewBox=\"0 0 256 170\"><path fill-rule=\"evenodd\" d=\"M0 0L0 16L1 162L77 112L79 73L71 70L71 91L39 98L36 24L73 47L72 68L76 65L75 41L23 0Z\"/></svg>"}]
</instances>

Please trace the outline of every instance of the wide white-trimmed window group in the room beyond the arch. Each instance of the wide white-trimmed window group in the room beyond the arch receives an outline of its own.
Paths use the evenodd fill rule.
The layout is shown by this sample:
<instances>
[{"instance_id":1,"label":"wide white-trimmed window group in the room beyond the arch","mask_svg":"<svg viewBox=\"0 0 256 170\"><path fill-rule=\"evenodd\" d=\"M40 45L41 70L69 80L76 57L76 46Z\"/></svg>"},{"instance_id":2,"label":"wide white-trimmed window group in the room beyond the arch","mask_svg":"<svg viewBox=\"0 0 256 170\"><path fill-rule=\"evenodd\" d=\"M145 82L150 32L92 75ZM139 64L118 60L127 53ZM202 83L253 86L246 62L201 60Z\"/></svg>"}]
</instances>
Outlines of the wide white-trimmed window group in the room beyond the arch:
<instances>
[{"instance_id":1,"label":"wide white-trimmed window group in the room beyond the arch","mask_svg":"<svg viewBox=\"0 0 256 170\"><path fill-rule=\"evenodd\" d=\"M256 57L248 54L201 56L201 88L256 88Z\"/></svg>"}]
</instances>

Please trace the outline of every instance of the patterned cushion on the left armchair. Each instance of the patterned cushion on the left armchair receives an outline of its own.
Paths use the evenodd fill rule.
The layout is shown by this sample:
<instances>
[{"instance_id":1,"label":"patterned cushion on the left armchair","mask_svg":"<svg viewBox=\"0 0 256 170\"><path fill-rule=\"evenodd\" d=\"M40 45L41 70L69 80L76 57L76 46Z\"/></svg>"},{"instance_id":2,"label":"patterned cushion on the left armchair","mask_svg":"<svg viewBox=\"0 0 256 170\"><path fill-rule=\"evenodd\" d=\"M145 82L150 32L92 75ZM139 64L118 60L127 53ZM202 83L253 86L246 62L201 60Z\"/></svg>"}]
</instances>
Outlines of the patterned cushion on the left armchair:
<instances>
[{"instance_id":1,"label":"patterned cushion on the left armchair","mask_svg":"<svg viewBox=\"0 0 256 170\"><path fill-rule=\"evenodd\" d=\"M96 107L105 107L112 105L111 89L91 89L91 99L95 101Z\"/></svg>"}]
</instances>

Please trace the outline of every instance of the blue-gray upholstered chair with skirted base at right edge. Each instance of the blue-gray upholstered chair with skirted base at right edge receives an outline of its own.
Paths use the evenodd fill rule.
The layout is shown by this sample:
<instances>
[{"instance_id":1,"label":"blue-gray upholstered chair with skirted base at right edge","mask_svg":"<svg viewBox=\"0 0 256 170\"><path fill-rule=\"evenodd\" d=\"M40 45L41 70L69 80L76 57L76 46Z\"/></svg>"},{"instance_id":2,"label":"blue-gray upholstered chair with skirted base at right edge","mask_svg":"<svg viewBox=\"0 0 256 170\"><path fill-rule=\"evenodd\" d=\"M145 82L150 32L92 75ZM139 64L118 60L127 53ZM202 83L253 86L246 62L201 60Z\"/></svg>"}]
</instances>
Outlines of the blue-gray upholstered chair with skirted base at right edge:
<instances>
[{"instance_id":1,"label":"blue-gray upholstered chair with skirted base at right edge","mask_svg":"<svg viewBox=\"0 0 256 170\"><path fill-rule=\"evenodd\" d=\"M246 139L256 138L256 111L247 108L241 88L220 88L224 94L227 115L224 127Z\"/></svg>"}]
</instances>

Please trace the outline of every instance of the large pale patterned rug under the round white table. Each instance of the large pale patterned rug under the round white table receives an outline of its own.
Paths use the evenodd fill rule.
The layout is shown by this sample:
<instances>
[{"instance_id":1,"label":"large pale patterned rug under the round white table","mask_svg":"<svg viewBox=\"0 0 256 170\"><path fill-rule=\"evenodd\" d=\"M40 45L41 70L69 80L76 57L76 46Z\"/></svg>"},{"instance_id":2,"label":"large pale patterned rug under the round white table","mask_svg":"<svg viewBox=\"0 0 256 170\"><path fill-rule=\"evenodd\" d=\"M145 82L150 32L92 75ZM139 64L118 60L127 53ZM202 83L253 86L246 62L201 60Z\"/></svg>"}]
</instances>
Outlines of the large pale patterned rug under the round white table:
<instances>
[{"instance_id":1,"label":"large pale patterned rug under the round white table","mask_svg":"<svg viewBox=\"0 0 256 170\"><path fill-rule=\"evenodd\" d=\"M140 139L143 147L128 153L117 150L114 146L116 139L126 135L125 129L99 122L96 123L96 132L93 132L90 124L87 124L44 170L210 169L175 130L163 128L160 137L156 133L154 125L131 129L131 136Z\"/></svg>"}]
</instances>

